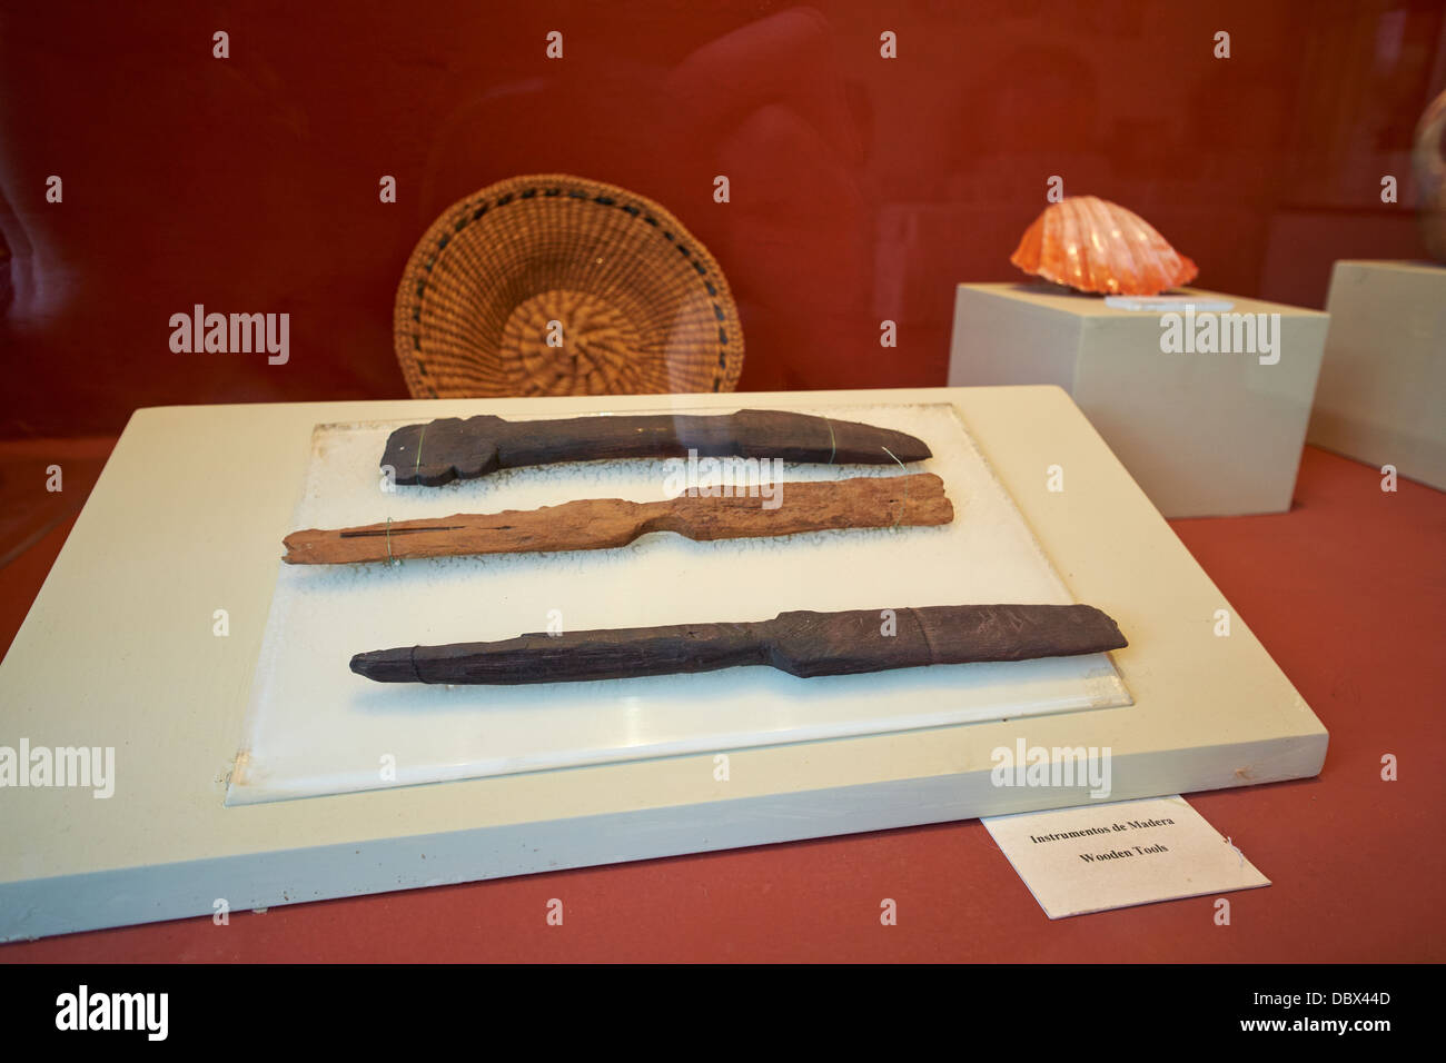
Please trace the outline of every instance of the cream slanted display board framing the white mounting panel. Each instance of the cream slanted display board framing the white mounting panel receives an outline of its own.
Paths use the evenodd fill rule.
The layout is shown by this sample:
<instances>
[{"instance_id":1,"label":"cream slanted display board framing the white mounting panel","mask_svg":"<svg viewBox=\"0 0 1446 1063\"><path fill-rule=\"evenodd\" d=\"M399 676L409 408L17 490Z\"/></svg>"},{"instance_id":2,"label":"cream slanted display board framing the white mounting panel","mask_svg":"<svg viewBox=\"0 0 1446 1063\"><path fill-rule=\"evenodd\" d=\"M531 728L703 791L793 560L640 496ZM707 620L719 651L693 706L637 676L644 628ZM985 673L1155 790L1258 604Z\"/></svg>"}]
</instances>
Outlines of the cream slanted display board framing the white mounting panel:
<instances>
[{"instance_id":1,"label":"cream slanted display board framing the white mounting panel","mask_svg":"<svg viewBox=\"0 0 1446 1063\"><path fill-rule=\"evenodd\" d=\"M1131 645L1112 657L1134 706L224 804L317 424L940 402L1070 594L1119 622ZM1320 722L1248 618L1215 635L1219 609L1231 606L1057 388L140 411L0 664L0 745L111 746L114 794L0 790L0 939L1092 800L1083 781L995 785L993 751L1017 742L1108 746L1109 800L1319 772Z\"/></svg>"}]
</instances>

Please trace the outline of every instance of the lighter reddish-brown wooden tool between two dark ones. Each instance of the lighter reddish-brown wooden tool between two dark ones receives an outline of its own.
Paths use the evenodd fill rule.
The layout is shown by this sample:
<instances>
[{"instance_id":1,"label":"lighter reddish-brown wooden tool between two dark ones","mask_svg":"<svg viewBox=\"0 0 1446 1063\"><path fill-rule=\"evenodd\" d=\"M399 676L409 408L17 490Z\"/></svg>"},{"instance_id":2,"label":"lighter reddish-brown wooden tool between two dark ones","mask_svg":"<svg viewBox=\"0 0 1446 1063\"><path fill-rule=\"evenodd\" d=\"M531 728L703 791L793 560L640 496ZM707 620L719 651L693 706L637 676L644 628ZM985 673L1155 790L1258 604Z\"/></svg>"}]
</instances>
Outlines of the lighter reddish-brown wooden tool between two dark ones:
<instances>
[{"instance_id":1,"label":"lighter reddish-brown wooden tool between two dark ones","mask_svg":"<svg viewBox=\"0 0 1446 1063\"><path fill-rule=\"evenodd\" d=\"M762 498L681 495L661 502L581 499L541 509L457 513L340 531L298 531L283 539L288 564L346 564L450 554L521 554L625 547L671 531L690 539L795 535L831 528L937 525L954 519L944 482L933 473L777 483L778 505Z\"/></svg>"}]
</instances>

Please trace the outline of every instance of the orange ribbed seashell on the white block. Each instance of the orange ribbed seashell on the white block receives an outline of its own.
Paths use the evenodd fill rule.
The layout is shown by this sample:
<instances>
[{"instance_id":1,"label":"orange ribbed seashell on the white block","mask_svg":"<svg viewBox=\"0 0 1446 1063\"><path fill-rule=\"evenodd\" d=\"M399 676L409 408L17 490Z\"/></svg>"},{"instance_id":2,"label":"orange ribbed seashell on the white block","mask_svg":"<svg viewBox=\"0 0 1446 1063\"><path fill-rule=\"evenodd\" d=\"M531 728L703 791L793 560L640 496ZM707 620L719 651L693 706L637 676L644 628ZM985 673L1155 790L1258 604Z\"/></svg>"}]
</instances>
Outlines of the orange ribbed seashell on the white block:
<instances>
[{"instance_id":1,"label":"orange ribbed seashell on the white block","mask_svg":"<svg viewBox=\"0 0 1446 1063\"><path fill-rule=\"evenodd\" d=\"M1200 272L1142 217L1093 195L1045 207L1009 262L1045 281L1105 295L1158 295Z\"/></svg>"}]
</instances>

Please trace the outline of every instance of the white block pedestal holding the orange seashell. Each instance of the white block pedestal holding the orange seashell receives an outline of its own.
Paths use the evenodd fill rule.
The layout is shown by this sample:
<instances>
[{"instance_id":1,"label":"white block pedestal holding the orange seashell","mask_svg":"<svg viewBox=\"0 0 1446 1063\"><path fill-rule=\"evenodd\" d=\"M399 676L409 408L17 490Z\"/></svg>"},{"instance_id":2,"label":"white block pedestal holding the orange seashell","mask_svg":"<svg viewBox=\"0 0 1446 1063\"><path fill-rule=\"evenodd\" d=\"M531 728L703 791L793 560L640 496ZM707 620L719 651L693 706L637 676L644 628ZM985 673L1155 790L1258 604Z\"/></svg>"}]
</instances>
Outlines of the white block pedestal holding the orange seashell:
<instances>
[{"instance_id":1,"label":"white block pedestal holding the orange seashell","mask_svg":"<svg viewBox=\"0 0 1446 1063\"><path fill-rule=\"evenodd\" d=\"M1327 315L1184 291L1233 304L1229 314L1267 315L1274 351L1235 333L1229 314L1216 315L1213 351L1164 350L1171 323L1157 309L1040 285L959 285L949 383L1064 388L1165 516L1290 509ZM1206 317L1181 314L1174 336L1199 337ZM1231 353L1220 350L1226 334ZM1057 463L1066 476L1067 457Z\"/></svg>"}]
</instances>

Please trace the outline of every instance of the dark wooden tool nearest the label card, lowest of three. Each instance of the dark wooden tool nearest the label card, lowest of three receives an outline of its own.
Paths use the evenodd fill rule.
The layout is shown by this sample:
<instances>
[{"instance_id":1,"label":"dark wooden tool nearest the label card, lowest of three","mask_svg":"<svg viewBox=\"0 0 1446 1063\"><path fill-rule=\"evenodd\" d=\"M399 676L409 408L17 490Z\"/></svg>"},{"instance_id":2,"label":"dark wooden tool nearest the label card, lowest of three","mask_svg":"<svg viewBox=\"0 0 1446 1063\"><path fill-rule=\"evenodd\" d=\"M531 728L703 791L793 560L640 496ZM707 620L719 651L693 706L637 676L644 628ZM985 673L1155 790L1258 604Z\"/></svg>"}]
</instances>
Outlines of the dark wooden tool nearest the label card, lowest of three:
<instances>
[{"instance_id":1,"label":"dark wooden tool nearest the label card, lowest of three","mask_svg":"<svg viewBox=\"0 0 1446 1063\"><path fill-rule=\"evenodd\" d=\"M792 675L850 675L970 661L1022 661L1121 649L1093 606L927 606L779 613L745 623L522 635L502 642L375 649L351 671L380 683L567 683L766 664Z\"/></svg>"}]
</instances>

